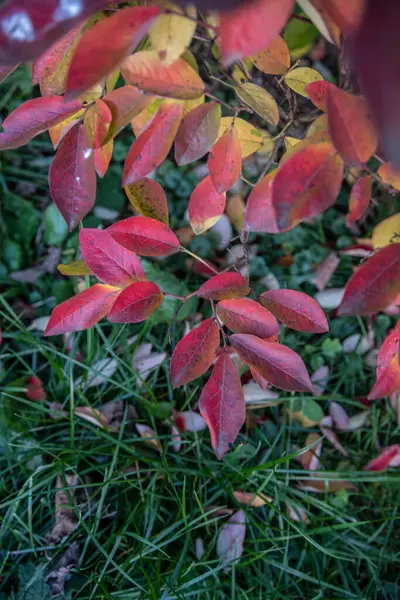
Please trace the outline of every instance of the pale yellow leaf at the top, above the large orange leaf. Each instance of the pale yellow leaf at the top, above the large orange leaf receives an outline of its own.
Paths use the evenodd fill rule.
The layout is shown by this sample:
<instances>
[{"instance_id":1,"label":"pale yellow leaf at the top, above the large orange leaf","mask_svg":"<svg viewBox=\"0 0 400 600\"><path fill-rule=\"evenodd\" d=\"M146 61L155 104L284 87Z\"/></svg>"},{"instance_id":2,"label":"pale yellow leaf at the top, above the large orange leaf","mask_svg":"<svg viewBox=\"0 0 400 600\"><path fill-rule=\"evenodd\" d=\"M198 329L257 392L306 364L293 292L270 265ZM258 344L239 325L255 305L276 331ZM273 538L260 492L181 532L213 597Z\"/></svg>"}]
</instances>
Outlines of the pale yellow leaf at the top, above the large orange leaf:
<instances>
[{"instance_id":1,"label":"pale yellow leaf at the top, above the large orange leaf","mask_svg":"<svg viewBox=\"0 0 400 600\"><path fill-rule=\"evenodd\" d=\"M187 8L193 20L185 17L178 6L169 5L169 8L174 12L161 14L149 30L151 46L165 65L172 64L185 52L196 29L196 10L193 7Z\"/></svg>"}]
</instances>

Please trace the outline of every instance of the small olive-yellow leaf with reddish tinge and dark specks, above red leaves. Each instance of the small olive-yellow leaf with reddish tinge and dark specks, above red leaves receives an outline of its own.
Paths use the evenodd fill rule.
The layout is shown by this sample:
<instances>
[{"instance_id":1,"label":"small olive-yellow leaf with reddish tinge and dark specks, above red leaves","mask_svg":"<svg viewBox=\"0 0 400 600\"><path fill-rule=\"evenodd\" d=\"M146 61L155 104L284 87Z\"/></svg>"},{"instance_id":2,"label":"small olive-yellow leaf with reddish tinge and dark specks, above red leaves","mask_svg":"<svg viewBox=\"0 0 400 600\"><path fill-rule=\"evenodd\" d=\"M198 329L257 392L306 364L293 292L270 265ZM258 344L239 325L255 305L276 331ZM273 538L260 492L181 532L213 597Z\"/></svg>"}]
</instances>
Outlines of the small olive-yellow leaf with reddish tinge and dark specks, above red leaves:
<instances>
[{"instance_id":1,"label":"small olive-yellow leaf with reddish tinge and dark specks, above red leaves","mask_svg":"<svg viewBox=\"0 0 400 600\"><path fill-rule=\"evenodd\" d=\"M143 177L124 189L129 202L140 214L168 225L167 196L157 181Z\"/></svg>"}]
</instances>

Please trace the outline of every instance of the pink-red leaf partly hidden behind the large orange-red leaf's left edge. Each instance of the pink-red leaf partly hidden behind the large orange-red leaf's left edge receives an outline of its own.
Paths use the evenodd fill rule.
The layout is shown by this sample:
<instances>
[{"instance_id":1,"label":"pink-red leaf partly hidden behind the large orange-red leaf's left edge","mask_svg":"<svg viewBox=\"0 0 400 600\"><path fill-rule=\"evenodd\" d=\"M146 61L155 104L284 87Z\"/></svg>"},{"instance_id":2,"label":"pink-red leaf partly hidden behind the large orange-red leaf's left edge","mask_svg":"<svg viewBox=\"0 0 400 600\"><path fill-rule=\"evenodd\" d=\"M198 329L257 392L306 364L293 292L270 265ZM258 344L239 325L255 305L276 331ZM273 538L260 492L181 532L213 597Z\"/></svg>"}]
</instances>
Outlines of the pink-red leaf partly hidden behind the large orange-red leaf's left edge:
<instances>
[{"instance_id":1,"label":"pink-red leaf partly hidden behind the large orange-red leaf's left edge","mask_svg":"<svg viewBox=\"0 0 400 600\"><path fill-rule=\"evenodd\" d=\"M246 203L244 224L247 231L279 233L272 206L272 184L276 169L268 173L250 192Z\"/></svg>"}]
</instances>

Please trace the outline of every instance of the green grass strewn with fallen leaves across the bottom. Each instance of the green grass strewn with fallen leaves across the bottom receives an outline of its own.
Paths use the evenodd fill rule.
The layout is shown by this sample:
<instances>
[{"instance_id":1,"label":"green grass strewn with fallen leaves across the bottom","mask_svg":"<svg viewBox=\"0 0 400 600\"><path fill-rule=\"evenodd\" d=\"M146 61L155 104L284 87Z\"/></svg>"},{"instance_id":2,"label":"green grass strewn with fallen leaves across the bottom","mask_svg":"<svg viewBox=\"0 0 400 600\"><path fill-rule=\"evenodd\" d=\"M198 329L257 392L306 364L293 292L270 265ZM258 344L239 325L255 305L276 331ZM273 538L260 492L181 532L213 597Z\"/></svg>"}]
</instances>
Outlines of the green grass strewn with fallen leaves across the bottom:
<instances>
[{"instance_id":1,"label":"green grass strewn with fallen leaves across the bottom","mask_svg":"<svg viewBox=\"0 0 400 600\"><path fill-rule=\"evenodd\" d=\"M138 389L130 367L132 347L126 345L136 329L139 340L143 335L155 348L164 347L159 325L141 330L105 325L79 334L77 344L84 352L79 363L73 353L27 331L6 301L1 316L1 360L11 382L3 385L1 395L0 577L5 598L17 589L21 566L35 565L34 576L42 581L38 566L48 573L74 541L80 559L67 590L82 600L398 597L400 475L362 470L376 454L376 441L393 443L398 434L386 402L372 406L367 427L341 436L348 459L341 460L329 444L324 447L326 481L339 477L354 483L357 491L308 493L297 487L305 472L296 461L296 448L304 446L308 430L282 420L281 406L267 409L265 423L241 435L222 462L213 455L206 432L183 434L181 452L172 451L168 428L154 416L159 403L180 408L193 403L198 392L194 386L172 392L167 363L152 374L148 387ZM119 363L112 379L87 392L73 385L93 362L107 356ZM49 402L25 399L21 382L18 386L22 373L41 377L48 401L62 404L69 416L55 421ZM343 370L341 379L346 380ZM344 387L351 388L351 382ZM328 398L317 400L325 407ZM351 395L339 398L350 411L357 404ZM111 433L74 416L75 406L95 407L111 399L136 406L141 422L157 432L160 454L128 430L126 422L119 433ZM290 403L290 397L283 402ZM65 541L49 545L56 478L62 478L68 496L65 478L72 474L78 477L73 493L80 500L75 505L70 496L70 506L78 526ZM245 507L244 553L227 574L216 555L226 517L215 513L216 507L238 509L233 492L239 489L272 496L273 502ZM291 521L287 503L302 506L310 523ZM194 553L198 537L205 545L200 561Z\"/></svg>"}]
</instances>

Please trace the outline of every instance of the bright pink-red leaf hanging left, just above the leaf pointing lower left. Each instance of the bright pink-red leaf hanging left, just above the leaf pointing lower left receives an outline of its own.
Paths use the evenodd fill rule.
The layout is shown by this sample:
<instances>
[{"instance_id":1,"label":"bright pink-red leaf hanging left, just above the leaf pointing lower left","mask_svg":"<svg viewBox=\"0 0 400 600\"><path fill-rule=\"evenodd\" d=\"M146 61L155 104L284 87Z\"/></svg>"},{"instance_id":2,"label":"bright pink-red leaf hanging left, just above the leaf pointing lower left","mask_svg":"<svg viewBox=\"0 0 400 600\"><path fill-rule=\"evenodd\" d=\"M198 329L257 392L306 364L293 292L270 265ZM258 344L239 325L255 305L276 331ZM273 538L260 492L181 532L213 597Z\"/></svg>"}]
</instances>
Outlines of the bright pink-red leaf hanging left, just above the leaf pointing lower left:
<instances>
[{"instance_id":1,"label":"bright pink-red leaf hanging left, just above the leaf pointing lower left","mask_svg":"<svg viewBox=\"0 0 400 600\"><path fill-rule=\"evenodd\" d=\"M93 275L104 283L122 287L146 279L136 254L117 244L108 231L81 229L79 247Z\"/></svg>"}]
</instances>

